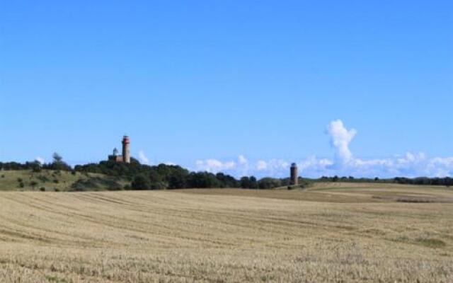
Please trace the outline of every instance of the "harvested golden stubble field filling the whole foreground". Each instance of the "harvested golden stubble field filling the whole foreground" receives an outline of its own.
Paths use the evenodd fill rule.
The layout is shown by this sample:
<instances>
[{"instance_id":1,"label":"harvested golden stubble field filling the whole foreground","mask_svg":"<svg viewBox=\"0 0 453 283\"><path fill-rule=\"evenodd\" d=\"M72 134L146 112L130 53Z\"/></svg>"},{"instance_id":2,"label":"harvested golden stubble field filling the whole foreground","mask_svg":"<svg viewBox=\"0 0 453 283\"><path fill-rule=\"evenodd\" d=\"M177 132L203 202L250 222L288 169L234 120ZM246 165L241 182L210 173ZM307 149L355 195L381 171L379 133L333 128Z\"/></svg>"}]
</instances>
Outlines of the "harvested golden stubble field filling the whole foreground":
<instances>
[{"instance_id":1,"label":"harvested golden stubble field filling the whole foreground","mask_svg":"<svg viewBox=\"0 0 453 283\"><path fill-rule=\"evenodd\" d=\"M452 190L326 187L1 192L0 282L453 282Z\"/></svg>"}]
</instances>

